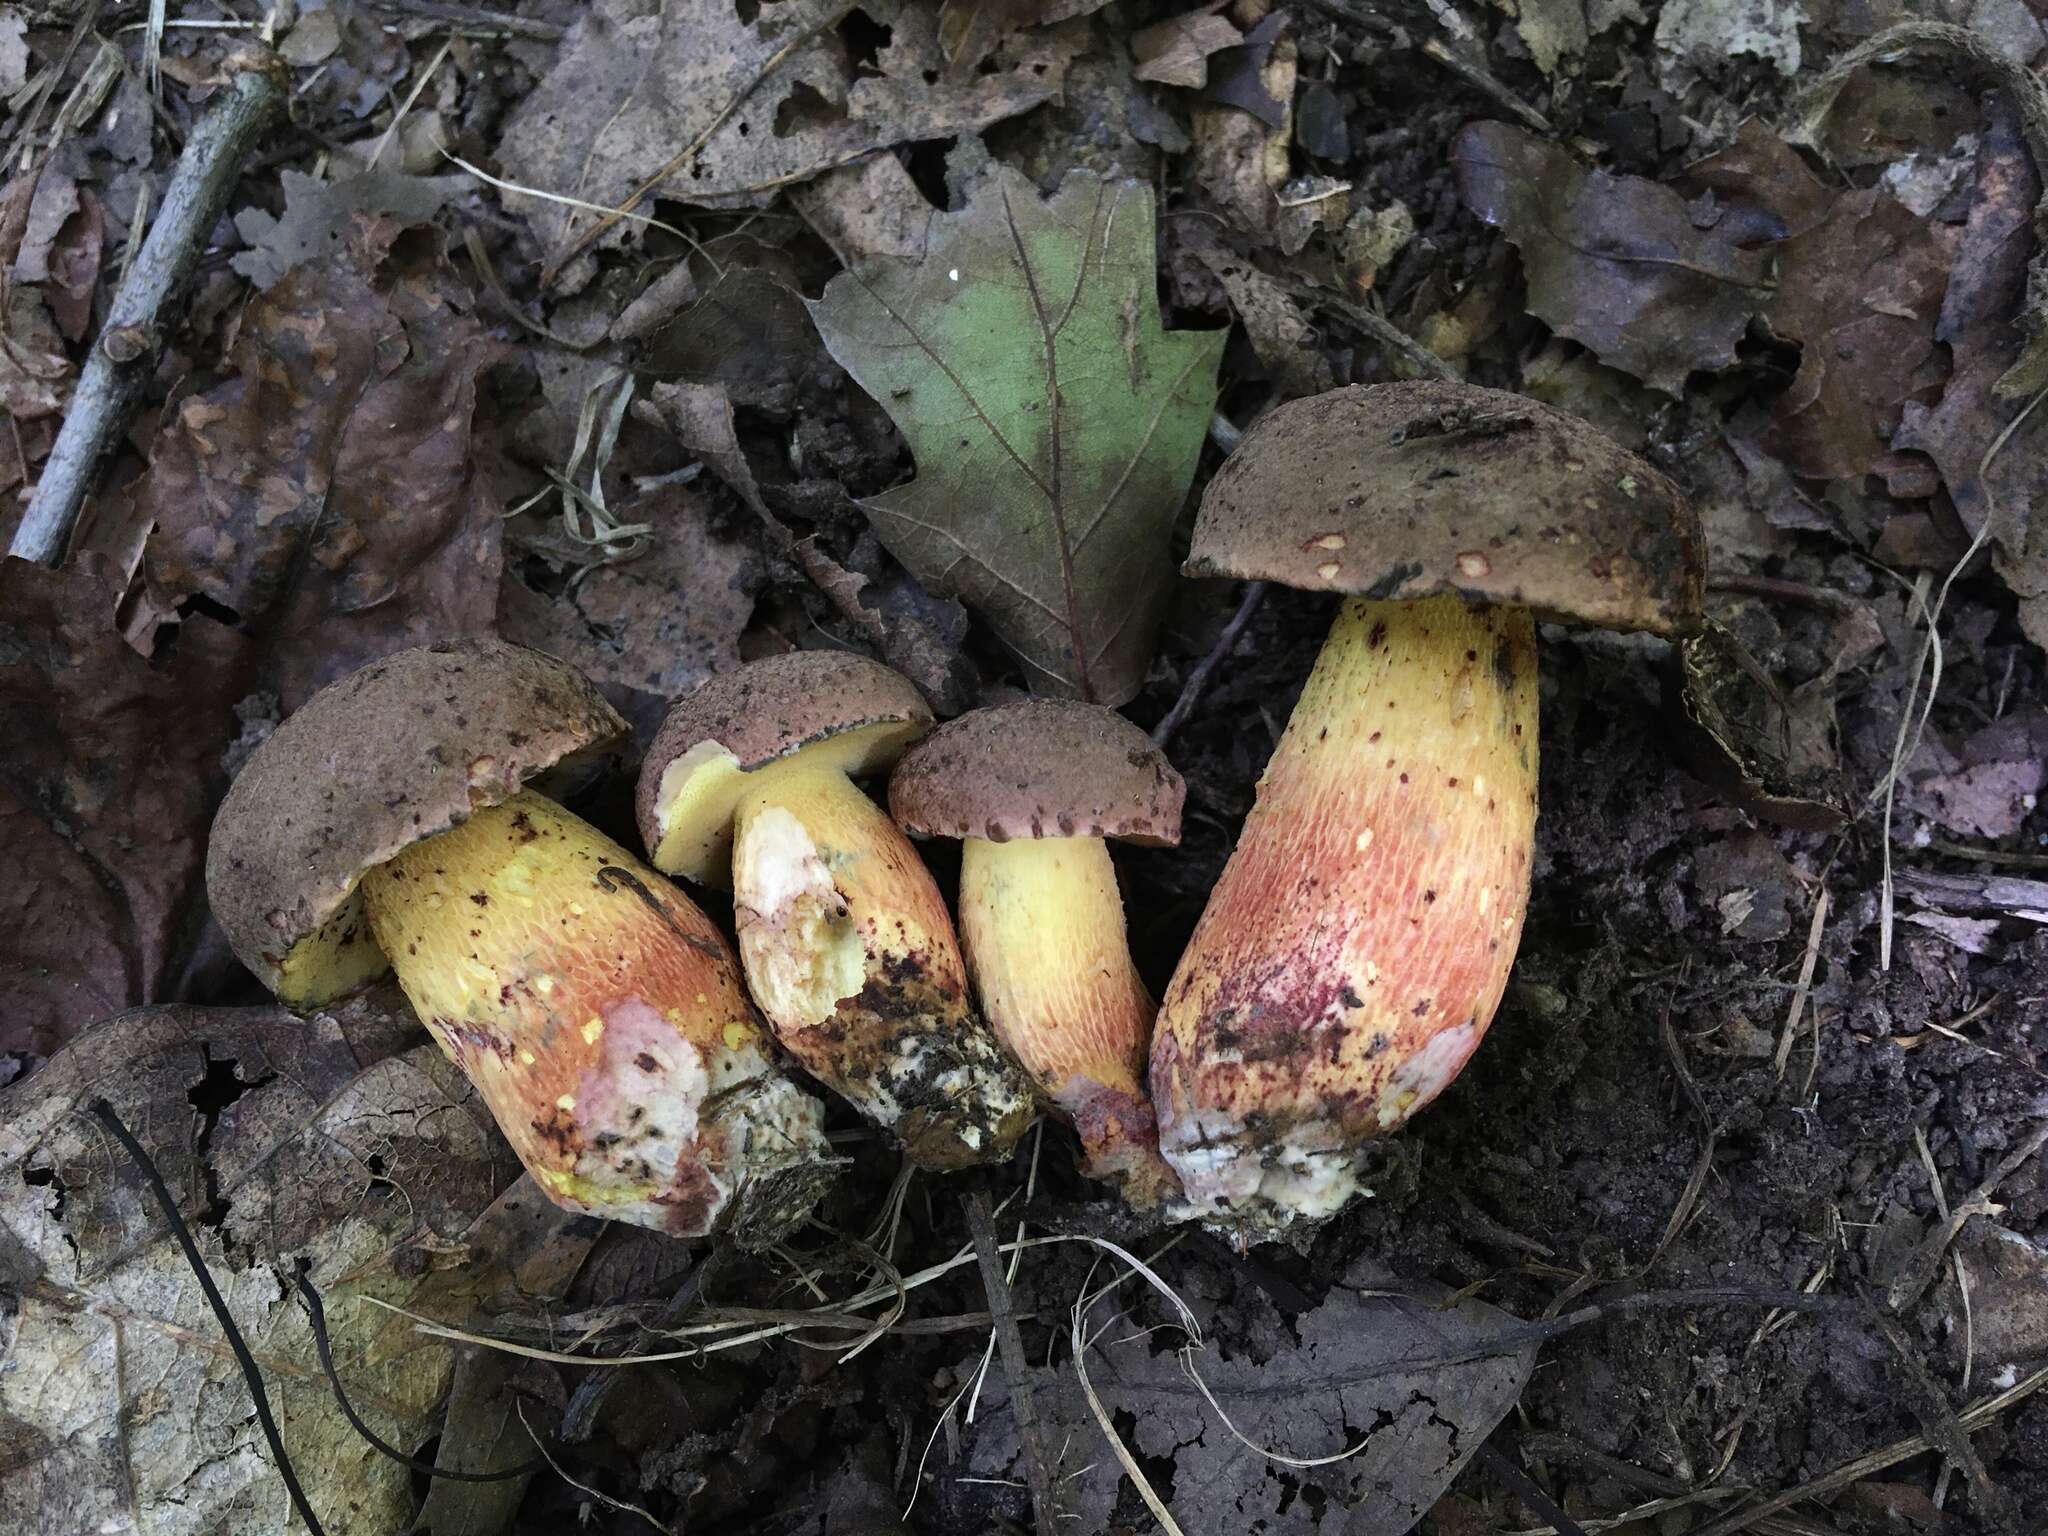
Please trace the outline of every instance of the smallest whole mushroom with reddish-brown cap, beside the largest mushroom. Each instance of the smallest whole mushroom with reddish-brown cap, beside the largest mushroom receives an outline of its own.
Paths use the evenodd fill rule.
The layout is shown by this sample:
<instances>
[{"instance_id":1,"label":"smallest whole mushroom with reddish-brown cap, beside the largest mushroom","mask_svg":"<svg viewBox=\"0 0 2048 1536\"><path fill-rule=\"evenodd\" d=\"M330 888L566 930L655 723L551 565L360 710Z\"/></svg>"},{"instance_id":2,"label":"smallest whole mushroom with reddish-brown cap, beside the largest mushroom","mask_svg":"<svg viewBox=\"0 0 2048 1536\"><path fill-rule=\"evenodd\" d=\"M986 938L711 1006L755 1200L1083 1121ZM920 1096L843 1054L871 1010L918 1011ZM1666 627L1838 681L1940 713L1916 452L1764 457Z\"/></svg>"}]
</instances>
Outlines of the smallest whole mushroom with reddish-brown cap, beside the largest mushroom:
<instances>
[{"instance_id":1,"label":"smallest whole mushroom with reddish-brown cap, beside the largest mushroom","mask_svg":"<svg viewBox=\"0 0 2048 1536\"><path fill-rule=\"evenodd\" d=\"M961 940L995 1036L1075 1124L1085 1171L1137 1206L1180 1182L1143 1085L1157 1006L1104 838L1178 844L1184 793L1122 715L1055 700L963 715L889 780L905 831L961 840Z\"/></svg>"}]
</instances>

